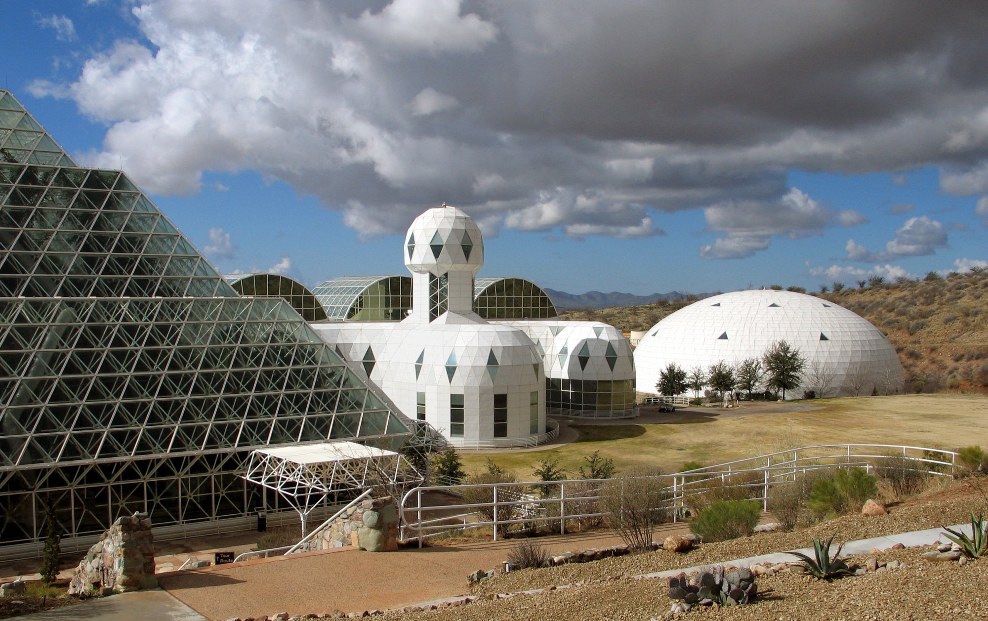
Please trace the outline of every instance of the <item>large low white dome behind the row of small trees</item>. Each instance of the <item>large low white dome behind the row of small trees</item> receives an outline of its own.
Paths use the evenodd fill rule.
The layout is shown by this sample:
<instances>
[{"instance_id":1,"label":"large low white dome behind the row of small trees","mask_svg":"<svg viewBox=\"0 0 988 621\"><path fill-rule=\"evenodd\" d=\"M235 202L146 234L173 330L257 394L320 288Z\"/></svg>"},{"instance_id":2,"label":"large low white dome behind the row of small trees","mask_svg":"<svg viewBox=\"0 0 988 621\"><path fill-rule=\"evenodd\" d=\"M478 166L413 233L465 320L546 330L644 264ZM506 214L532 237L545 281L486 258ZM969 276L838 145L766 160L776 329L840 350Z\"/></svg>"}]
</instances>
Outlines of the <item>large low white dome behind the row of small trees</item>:
<instances>
[{"instance_id":1,"label":"large low white dome behind the row of small trees","mask_svg":"<svg viewBox=\"0 0 988 621\"><path fill-rule=\"evenodd\" d=\"M761 358L779 340L807 359L802 385L825 397L898 393L903 373L888 339L864 317L822 298L789 291L737 291L700 300L662 319L634 350L639 393L656 394L669 363L687 372L723 360ZM829 382L827 381L829 378Z\"/></svg>"}]
</instances>

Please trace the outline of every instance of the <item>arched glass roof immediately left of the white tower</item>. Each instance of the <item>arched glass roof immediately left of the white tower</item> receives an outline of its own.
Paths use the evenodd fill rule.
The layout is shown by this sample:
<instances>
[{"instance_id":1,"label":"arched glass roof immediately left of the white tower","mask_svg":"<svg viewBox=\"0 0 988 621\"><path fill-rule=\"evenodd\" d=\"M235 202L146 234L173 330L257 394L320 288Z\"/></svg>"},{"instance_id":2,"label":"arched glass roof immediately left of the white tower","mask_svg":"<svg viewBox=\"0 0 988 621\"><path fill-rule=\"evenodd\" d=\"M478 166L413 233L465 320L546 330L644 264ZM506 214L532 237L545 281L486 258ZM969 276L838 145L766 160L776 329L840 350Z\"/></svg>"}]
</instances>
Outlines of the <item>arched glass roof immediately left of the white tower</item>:
<instances>
[{"instance_id":1,"label":"arched glass roof immediately left of the white tower","mask_svg":"<svg viewBox=\"0 0 988 621\"><path fill-rule=\"evenodd\" d=\"M410 276L344 276L313 290L328 319L394 321L412 308Z\"/></svg>"}]
</instances>

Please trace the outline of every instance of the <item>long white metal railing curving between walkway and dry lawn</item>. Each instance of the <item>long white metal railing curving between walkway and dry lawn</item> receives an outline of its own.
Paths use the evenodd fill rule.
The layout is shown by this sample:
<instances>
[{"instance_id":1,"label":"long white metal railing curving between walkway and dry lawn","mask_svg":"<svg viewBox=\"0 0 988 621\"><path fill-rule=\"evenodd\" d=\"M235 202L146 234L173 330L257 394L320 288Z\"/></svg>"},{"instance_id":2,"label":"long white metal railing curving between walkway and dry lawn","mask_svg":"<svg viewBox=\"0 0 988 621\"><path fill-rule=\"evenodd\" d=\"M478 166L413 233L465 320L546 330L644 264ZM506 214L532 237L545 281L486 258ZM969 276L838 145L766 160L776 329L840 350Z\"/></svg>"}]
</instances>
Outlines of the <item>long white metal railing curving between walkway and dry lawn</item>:
<instances>
[{"instance_id":1,"label":"long white metal railing curving between walkway and dry lawn","mask_svg":"<svg viewBox=\"0 0 988 621\"><path fill-rule=\"evenodd\" d=\"M943 449L894 444L820 444L804 446L757 457L715 464L691 471L648 477L665 483L667 500L655 507L677 521L689 500L711 484L727 488L749 488L752 500L768 509L769 490L794 481L800 473L813 470L860 467L866 471L881 468L888 458L905 458L913 470L933 476L952 476L957 454ZM473 484L420 486L404 494L399 504L402 541L423 540L452 529L493 527L494 539L513 524L558 524L566 532L567 520L600 519L605 513L598 500L602 487L613 479L553 481L538 483ZM543 497L532 495L535 486ZM475 491L471 491L475 490ZM427 504L425 492L442 491L468 501ZM438 494L429 494L436 498ZM469 501L472 500L472 501ZM450 513L451 511L458 511ZM457 525L458 522L458 525ZM554 526L553 526L554 528Z\"/></svg>"}]
</instances>

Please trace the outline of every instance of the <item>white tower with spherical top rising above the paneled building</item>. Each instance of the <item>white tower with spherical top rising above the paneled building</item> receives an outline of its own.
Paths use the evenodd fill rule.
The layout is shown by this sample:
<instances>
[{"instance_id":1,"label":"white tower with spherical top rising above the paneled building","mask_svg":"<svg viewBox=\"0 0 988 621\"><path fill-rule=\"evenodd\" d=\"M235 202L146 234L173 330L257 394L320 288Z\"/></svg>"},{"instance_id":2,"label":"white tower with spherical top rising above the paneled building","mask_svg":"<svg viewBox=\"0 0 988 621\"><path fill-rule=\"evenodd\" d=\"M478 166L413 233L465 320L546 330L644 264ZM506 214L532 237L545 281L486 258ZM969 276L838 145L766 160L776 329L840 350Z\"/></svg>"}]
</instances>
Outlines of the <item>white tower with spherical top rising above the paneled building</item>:
<instances>
[{"instance_id":1,"label":"white tower with spherical top rising above the paneled building","mask_svg":"<svg viewBox=\"0 0 988 621\"><path fill-rule=\"evenodd\" d=\"M473 277L484 264L484 241L472 218L445 203L425 212L405 234L404 258L412 272L406 321L482 321L473 311Z\"/></svg>"}]
</instances>

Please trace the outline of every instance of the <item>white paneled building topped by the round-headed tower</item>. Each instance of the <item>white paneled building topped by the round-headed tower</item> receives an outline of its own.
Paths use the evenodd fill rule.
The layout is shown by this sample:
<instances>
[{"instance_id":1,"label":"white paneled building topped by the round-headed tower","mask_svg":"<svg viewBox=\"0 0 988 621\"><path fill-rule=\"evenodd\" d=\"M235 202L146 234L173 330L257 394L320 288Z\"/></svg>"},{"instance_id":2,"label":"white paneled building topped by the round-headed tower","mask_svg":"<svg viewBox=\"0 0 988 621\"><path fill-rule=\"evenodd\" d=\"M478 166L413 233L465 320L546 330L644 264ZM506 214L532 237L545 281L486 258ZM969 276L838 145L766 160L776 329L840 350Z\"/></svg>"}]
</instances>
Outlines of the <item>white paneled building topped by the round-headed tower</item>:
<instances>
[{"instance_id":1,"label":"white paneled building topped by the round-headed tower","mask_svg":"<svg viewBox=\"0 0 988 621\"><path fill-rule=\"evenodd\" d=\"M531 446L554 437L535 343L473 311L473 279L484 256L473 220L453 207L429 210L412 222L403 254L412 272L412 308L403 320L312 327L453 446Z\"/></svg>"}]
</instances>

